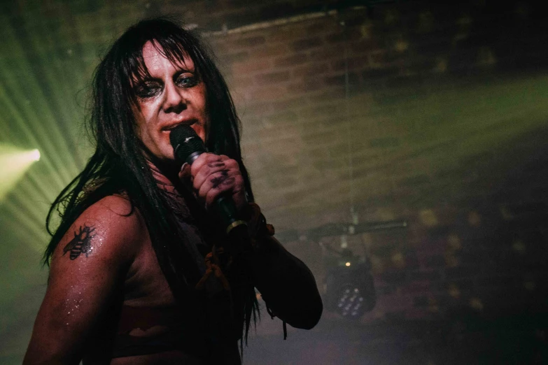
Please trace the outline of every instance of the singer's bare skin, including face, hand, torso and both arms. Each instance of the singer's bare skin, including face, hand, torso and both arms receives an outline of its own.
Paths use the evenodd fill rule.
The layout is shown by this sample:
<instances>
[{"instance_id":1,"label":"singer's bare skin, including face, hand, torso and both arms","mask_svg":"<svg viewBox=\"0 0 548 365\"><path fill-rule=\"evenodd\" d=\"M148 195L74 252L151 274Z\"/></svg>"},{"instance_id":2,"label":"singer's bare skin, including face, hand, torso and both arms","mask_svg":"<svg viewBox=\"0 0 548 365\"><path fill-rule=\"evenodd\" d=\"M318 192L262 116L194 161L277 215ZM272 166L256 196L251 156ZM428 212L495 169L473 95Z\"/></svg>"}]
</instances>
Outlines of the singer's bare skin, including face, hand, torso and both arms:
<instances>
[{"instance_id":1,"label":"singer's bare skin, including face, hand, torso and both arms","mask_svg":"<svg viewBox=\"0 0 548 365\"><path fill-rule=\"evenodd\" d=\"M206 141L209 128L214 127L207 112L206 88L187 57L171 64L149 42L143 58L151 77L136 85L137 132L146 147L143 153L172 162L170 128L189 124ZM177 174L206 207L220 194L231 194L238 208L246 205L244 180L234 159L204 153L192 166L185 164L174 171ZM271 298L270 308L288 324L314 327L322 311L314 276L274 238L265 238L261 247L249 258L256 287ZM146 223L123 194L106 196L87 208L59 241L24 364L78 364L83 357L88 364L199 364L181 351L109 359L108 341L90 338L97 331L107 339L115 333L108 326L116 323L111 318L122 304L149 308L175 304ZM155 326L134 334L149 336L166 330Z\"/></svg>"}]
</instances>

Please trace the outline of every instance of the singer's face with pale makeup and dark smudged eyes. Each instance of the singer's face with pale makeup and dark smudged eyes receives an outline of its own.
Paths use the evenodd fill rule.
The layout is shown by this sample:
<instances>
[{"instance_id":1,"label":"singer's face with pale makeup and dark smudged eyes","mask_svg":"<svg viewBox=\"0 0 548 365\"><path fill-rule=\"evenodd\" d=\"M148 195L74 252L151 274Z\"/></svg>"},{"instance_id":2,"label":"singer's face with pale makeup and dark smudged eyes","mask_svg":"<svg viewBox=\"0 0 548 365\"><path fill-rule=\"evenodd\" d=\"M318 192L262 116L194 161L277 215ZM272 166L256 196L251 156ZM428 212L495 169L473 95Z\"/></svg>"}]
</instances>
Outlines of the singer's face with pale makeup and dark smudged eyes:
<instances>
[{"instance_id":1,"label":"singer's face with pale makeup and dark smudged eyes","mask_svg":"<svg viewBox=\"0 0 548 365\"><path fill-rule=\"evenodd\" d=\"M143 47L143 59L150 78L135 87L133 113L139 138L158 159L173 160L169 133L178 124L190 125L206 141L209 129L206 87L195 73L190 57L171 64L148 42Z\"/></svg>"}]
</instances>

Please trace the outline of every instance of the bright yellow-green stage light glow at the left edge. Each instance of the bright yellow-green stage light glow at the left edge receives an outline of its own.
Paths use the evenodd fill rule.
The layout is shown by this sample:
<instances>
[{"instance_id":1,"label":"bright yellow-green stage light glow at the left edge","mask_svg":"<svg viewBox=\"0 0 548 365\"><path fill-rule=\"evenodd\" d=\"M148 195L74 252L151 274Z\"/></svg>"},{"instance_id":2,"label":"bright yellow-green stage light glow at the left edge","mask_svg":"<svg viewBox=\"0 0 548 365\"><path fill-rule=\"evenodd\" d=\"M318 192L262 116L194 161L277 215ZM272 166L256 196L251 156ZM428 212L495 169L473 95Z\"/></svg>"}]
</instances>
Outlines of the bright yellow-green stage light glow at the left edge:
<instances>
[{"instance_id":1,"label":"bright yellow-green stage light glow at the left edge","mask_svg":"<svg viewBox=\"0 0 548 365\"><path fill-rule=\"evenodd\" d=\"M0 145L0 201L13 189L31 164L39 159L38 150L21 150L10 145Z\"/></svg>"}]
</instances>

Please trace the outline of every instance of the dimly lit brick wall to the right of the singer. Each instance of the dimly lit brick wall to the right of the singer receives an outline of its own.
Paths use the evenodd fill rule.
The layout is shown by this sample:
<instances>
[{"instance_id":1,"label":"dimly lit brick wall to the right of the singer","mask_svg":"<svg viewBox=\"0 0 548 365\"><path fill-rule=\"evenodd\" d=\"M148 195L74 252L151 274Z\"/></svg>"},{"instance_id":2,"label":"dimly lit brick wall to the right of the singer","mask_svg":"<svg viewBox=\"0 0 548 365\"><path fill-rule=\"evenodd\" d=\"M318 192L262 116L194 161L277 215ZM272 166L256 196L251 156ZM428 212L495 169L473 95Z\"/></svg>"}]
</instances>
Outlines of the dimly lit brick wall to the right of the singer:
<instances>
[{"instance_id":1,"label":"dimly lit brick wall to the right of the singer","mask_svg":"<svg viewBox=\"0 0 548 365\"><path fill-rule=\"evenodd\" d=\"M372 261L363 321L545 308L548 115L521 100L546 96L540 24L524 2L414 1L207 33L258 201L319 282L318 241L342 238L314 227L409 223L347 238Z\"/></svg>"}]
</instances>

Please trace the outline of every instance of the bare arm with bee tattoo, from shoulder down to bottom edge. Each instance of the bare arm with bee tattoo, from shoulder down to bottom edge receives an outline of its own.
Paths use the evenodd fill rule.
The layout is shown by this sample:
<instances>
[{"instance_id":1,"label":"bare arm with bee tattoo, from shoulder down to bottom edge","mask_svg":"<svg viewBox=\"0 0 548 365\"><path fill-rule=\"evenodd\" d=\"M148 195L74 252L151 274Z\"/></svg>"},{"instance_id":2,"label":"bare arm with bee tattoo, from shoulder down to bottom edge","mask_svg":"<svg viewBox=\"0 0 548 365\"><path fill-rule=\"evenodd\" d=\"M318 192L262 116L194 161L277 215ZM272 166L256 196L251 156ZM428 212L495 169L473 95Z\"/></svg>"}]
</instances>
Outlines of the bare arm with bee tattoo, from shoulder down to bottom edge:
<instances>
[{"instance_id":1,"label":"bare arm with bee tattoo, from shoulder down to bottom edge","mask_svg":"<svg viewBox=\"0 0 548 365\"><path fill-rule=\"evenodd\" d=\"M57 245L24 364L78 364L95 325L120 295L143 224L129 202L107 196ZM127 216L125 216L127 215Z\"/></svg>"}]
</instances>

